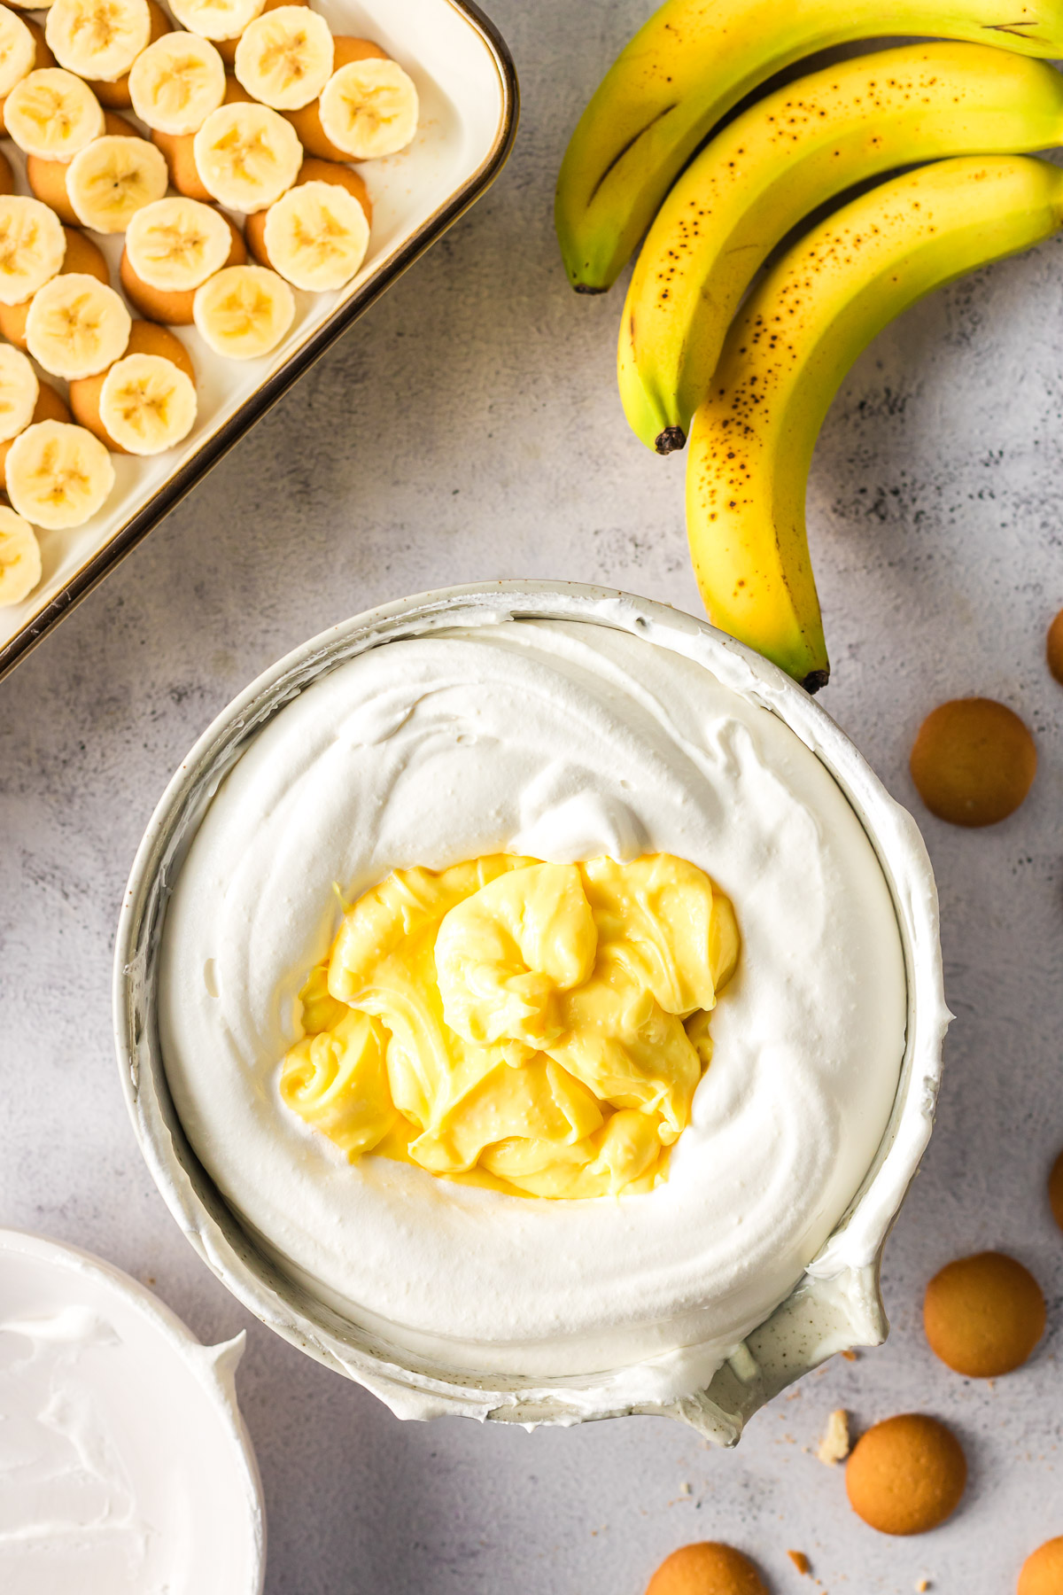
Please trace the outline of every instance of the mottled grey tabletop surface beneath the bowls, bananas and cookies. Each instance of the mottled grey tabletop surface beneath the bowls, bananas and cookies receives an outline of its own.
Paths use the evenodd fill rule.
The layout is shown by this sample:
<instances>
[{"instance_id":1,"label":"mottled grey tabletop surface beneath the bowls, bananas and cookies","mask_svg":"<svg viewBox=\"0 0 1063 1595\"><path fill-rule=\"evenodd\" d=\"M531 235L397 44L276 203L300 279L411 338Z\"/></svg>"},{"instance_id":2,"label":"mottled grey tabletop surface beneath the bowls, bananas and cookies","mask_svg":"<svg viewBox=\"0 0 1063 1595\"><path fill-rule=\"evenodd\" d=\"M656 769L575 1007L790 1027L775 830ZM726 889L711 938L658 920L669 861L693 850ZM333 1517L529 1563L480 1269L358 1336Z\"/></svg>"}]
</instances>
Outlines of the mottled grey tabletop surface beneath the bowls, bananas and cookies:
<instances>
[{"instance_id":1,"label":"mottled grey tabletop surface beneath the bowls, bananas and cookies","mask_svg":"<svg viewBox=\"0 0 1063 1595\"><path fill-rule=\"evenodd\" d=\"M1044 1179L1063 1145L1063 246L996 266L886 332L816 455L810 522L830 713L915 809L939 872L951 1006L939 1129L886 1250L886 1348L829 1365L735 1453L677 1424L569 1432L397 1423L231 1300L140 1163L110 1040L123 884L172 767L257 671L331 620L446 582L569 576L696 611L682 463L626 432L615 295L575 298L550 222L580 104L644 0L492 0L524 91L496 188L0 684L0 1220L91 1247L210 1340L249 1332L241 1394L269 1506L269 1595L639 1595L695 1538L751 1552L771 1589L955 1595L1015 1585L1063 1533L1063 1236ZM1012 820L961 833L920 809L923 715L983 692L1036 731ZM994 1386L939 1365L924 1281L999 1246L1050 1329ZM971 1487L945 1528L889 1541L810 1455L857 1424L955 1424Z\"/></svg>"}]
</instances>

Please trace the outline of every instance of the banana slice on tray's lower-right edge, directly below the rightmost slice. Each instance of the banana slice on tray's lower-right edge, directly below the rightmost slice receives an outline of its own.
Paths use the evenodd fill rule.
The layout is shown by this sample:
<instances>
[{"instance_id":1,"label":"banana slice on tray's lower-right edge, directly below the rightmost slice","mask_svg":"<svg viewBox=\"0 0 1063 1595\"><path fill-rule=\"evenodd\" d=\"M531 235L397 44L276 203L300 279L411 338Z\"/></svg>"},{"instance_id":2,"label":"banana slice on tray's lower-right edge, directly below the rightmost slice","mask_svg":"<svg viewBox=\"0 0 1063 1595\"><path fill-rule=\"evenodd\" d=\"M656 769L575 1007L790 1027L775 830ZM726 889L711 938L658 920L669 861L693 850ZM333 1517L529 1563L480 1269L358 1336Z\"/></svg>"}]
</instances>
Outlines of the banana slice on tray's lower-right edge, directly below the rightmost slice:
<instances>
[{"instance_id":1,"label":"banana slice on tray's lower-right edge, directly below the rightmost slice","mask_svg":"<svg viewBox=\"0 0 1063 1595\"><path fill-rule=\"evenodd\" d=\"M311 293L349 282L365 260L368 242L365 211L338 183L288 188L266 211L263 244L269 265L292 287Z\"/></svg>"}]
</instances>

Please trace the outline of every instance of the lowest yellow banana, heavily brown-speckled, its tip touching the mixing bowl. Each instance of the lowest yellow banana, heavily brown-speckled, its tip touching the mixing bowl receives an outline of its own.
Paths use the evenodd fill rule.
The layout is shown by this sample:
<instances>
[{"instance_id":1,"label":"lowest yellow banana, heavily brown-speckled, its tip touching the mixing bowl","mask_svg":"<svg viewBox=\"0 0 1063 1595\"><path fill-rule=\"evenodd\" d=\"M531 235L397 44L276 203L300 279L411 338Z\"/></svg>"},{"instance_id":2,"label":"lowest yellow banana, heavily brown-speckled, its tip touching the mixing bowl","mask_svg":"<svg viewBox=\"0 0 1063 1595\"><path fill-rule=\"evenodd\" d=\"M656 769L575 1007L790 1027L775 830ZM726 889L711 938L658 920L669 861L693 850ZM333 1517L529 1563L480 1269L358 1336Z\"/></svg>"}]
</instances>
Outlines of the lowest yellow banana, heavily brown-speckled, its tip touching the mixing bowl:
<instances>
[{"instance_id":1,"label":"lowest yellow banana, heavily brown-speckled, its tip touching the mixing bowl","mask_svg":"<svg viewBox=\"0 0 1063 1595\"><path fill-rule=\"evenodd\" d=\"M829 676L805 533L808 467L853 360L923 295L1063 222L1063 171L1030 156L940 161L862 195L768 273L693 418L687 533L722 630L810 691Z\"/></svg>"}]
</instances>

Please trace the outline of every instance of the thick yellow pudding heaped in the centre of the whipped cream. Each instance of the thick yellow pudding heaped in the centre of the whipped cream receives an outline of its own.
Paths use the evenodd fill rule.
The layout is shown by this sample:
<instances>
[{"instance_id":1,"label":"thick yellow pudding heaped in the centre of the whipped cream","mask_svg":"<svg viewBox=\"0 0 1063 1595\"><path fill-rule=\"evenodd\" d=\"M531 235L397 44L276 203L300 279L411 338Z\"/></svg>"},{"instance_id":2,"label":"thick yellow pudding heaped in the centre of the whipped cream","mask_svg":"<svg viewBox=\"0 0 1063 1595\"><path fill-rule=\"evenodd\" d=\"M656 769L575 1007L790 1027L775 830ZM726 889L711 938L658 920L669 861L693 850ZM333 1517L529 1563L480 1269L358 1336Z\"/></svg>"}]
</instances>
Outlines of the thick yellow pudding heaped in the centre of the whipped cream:
<instances>
[{"instance_id":1,"label":"thick yellow pudding heaped in the centre of the whipped cream","mask_svg":"<svg viewBox=\"0 0 1063 1595\"><path fill-rule=\"evenodd\" d=\"M303 986L280 1094L351 1161L524 1196L647 1191L736 960L730 901L669 853L398 869Z\"/></svg>"}]
</instances>

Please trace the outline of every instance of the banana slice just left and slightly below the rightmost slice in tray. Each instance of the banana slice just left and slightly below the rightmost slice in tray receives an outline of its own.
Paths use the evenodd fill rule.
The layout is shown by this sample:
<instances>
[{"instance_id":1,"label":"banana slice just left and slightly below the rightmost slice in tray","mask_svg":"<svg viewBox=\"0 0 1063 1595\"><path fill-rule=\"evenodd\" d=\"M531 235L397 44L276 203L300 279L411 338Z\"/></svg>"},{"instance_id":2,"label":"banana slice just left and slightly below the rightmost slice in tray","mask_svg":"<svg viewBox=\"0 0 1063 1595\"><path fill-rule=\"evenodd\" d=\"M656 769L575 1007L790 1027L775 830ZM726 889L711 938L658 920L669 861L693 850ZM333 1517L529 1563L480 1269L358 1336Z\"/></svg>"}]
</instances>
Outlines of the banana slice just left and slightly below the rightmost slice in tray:
<instances>
[{"instance_id":1,"label":"banana slice just left and slightly below the rightmost slice in tray","mask_svg":"<svg viewBox=\"0 0 1063 1595\"><path fill-rule=\"evenodd\" d=\"M295 128L268 105L220 105L196 134L193 152L204 188L231 211L265 211L303 164Z\"/></svg>"}]
</instances>

